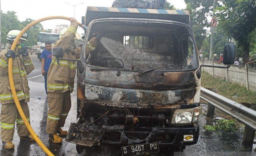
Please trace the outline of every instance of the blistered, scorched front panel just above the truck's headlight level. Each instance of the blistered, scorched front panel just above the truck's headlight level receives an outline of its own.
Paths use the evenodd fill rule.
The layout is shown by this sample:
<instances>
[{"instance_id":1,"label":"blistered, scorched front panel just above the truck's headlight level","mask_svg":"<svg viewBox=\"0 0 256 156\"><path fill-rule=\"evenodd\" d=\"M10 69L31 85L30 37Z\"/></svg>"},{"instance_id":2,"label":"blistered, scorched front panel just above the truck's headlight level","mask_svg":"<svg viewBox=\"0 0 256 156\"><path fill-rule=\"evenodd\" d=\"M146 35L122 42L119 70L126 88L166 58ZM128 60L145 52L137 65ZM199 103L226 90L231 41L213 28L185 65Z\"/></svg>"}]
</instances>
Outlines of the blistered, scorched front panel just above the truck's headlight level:
<instances>
[{"instance_id":1,"label":"blistered, scorched front panel just above the truck's headlight level","mask_svg":"<svg viewBox=\"0 0 256 156\"><path fill-rule=\"evenodd\" d=\"M85 100L97 101L104 105L170 105L193 103L194 89L184 90L131 90L85 84ZM138 105L138 106L137 106Z\"/></svg>"}]
</instances>

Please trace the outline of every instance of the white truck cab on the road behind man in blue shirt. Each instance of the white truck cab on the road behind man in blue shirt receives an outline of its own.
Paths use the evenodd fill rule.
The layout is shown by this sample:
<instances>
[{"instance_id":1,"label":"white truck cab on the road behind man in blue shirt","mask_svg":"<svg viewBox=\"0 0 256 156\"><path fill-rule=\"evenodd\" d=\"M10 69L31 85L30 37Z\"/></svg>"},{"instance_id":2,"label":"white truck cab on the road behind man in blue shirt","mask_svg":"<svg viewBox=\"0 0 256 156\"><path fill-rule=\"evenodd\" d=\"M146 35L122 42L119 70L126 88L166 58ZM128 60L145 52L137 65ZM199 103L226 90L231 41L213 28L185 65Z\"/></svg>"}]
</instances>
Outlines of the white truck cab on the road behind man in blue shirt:
<instances>
[{"instance_id":1,"label":"white truck cab on the road behind man in blue shirt","mask_svg":"<svg viewBox=\"0 0 256 156\"><path fill-rule=\"evenodd\" d=\"M40 56L43 50L46 49L45 41L51 41L52 45L59 40L60 34L40 32L37 38L37 58L41 60Z\"/></svg>"}]
</instances>

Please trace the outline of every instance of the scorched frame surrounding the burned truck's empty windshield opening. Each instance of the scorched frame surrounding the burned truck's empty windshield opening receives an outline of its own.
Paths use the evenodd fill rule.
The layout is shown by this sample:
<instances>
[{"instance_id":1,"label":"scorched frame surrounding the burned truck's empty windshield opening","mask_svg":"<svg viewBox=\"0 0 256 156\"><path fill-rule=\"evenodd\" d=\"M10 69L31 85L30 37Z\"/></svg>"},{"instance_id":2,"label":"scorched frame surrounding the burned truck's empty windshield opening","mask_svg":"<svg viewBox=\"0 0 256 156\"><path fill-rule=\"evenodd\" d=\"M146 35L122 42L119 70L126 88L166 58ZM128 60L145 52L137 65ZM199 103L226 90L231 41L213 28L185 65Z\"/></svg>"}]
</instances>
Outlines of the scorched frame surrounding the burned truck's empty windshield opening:
<instances>
[{"instance_id":1,"label":"scorched frame surrounding the burned truck's empty windshield opening","mask_svg":"<svg viewBox=\"0 0 256 156\"><path fill-rule=\"evenodd\" d=\"M92 20L91 22L90 22L90 24L88 25L88 29L87 29L87 31L86 31L86 34L85 34L85 38L84 38L84 45L83 45L83 50L82 50L82 55L81 55L81 63L84 65L84 66L89 66L89 67L95 67L95 68L102 68L103 66L99 66L99 65L93 65L93 64L91 64L91 63L88 63L88 57L90 57L90 56L86 56L86 45L87 45L87 43L88 43L88 41L90 41L89 39L91 39L92 38L92 33L95 33L95 32L93 32L93 25L94 24L96 24L96 23L101 23L101 24L103 24L103 22L124 22L124 23L129 23L129 24L131 24L131 23L134 23L134 24L147 24L147 23L153 23L153 24L162 24L162 25L166 25L166 26L168 26L168 25L172 25L172 26L175 26L175 27L182 27L182 28L185 28L185 30L187 31L187 34L183 34L183 35L180 35L179 37L181 37L181 36L185 36L185 37L187 37L187 39L179 39L179 41L177 41L178 42L178 45L176 45L177 47L178 47L178 49L179 49L179 51L181 51L182 50L182 53L184 54L184 46L182 45L183 43L186 43L187 45L186 45L186 48L188 48L188 46L189 46L189 43L191 43L192 44L192 48L190 48L190 51L192 50L192 53L194 54L194 59L193 59L193 57L192 58L188 58L188 56L186 56L186 55L183 55L182 54L182 62L188 62L188 59L193 59L191 62L193 62L193 65L185 65L185 66L187 66L187 67L185 67L184 65L182 65L183 63L181 63L181 65L182 66L180 66L180 68L178 68L179 66L177 66L177 65L172 65L172 64L169 64L169 63L166 63L166 62L160 62L160 61L158 61L159 63L160 63L160 65L161 66L163 66L163 67L166 67L166 66L168 66L168 67L170 67L170 66L172 66L173 68L176 68L176 69L164 69L164 70L161 70L161 68L160 69L156 69L156 70L153 70L153 71L151 71L151 72L180 72L180 71L195 71L196 69L198 69L199 68L199 59L198 59L198 51L197 51L197 47L196 47L196 41L195 41L195 38L194 38L194 35L193 35L193 32L192 32L192 29L191 29L191 27L189 26L189 25L187 25L187 24L185 24L185 23L180 23L180 22L175 22L175 21L169 21L169 20L158 20L158 19L127 19L127 18L108 18L108 19L95 19L95 20ZM145 47L146 48L152 48L152 44L154 44L154 43L150 43L150 41L149 41L149 38L150 38L150 40L154 40L154 36L150 36L150 35L143 35L143 34L134 34L134 35L132 35L132 34L122 34L123 35L123 37L124 37L124 43L122 43L122 44L124 44L123 46L125 47L126 45L128 45L128 46L130 46L131 45L131 43L130 43L130 41L129 42L127 42L126 41L126 37L127 36L143 36L143 37L138 37L138 39L139 40L142 40L142 43L143 42L145 42L145 46L144 45L138 45L137 46L137 49L145 49ZM147 37L147 39L145 40L145 38ZM135 40L135 37L133 37L134 38L134 40ZM153 39L152 39L153 38ZM129 38L129 40L130 40L130 38ZM133 40L133 41L134 41ZM170 42L171 41L168 41L168 46L170 46ZM128 43L128 44L127 44ZM139 42L138 42L139 43ZM134 43L132 43L132 44L134 44ZM182 48L180 48L180 45L182 45ZM136 47L134 47L134 48L136 48ZM159 51L161 51L161 48L162 48L162 46L160 46L160 47L158 47L157 46L157 51L158 51L158 48L160 49ZM178 51L178 52L179 52ZM97 51L98 52L98 51ZM169 49L168 49L168 51L167 52L169 52ZM187 53L186 54L189 54L189 51L187 50ZM180 54L179 54L180 55ZM191 63L190 63L191 64ZM188 67L188 66L190 66L190 67ZM104 66L105 67L105 66ZM104 68L103 67L103 68ZM108 66L109 67L109 66ZM157 65L156 67L159 67L159 65ZM110 67L110 68L113 68L113 70L120 70L120 68L119 67ZM153 68L155 68L155 67L153 67ZM127 71L134 71L134 72L141 72L141 71L147 71L147 70L150 70L150 69L153 69L152 67L150 68L150 67L148 67L148 68L145 68L145 69L133 69L133 68L129 68L129 69L125 69L125 70L127 70Z\"/></svg>"}]
</instances>

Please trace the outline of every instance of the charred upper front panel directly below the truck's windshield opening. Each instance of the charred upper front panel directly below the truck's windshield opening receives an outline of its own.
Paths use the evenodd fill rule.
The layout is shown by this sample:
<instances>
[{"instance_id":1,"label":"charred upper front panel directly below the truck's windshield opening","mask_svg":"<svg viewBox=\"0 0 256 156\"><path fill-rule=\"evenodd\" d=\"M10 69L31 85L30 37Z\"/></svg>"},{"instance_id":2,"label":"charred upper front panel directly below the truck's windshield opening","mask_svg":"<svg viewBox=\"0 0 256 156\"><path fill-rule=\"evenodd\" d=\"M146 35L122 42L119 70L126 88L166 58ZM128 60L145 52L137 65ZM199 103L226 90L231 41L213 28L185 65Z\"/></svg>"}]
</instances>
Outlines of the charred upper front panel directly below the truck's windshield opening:
<instances>
[{"instance_id":1,"label":"charred upper front panel directly below the truck's windshield opening","mask_svg":"<svg viewBox=\"0 0 256 156\"><path fill-rule=\"evenodd\" d=\"M85 82L91 85L138 90L180 90L200 85L199 80L195 81L195 71L156 72L140 76L140 72L90 71L90 67L86 68Z\"/></svg>"}]
</instances>

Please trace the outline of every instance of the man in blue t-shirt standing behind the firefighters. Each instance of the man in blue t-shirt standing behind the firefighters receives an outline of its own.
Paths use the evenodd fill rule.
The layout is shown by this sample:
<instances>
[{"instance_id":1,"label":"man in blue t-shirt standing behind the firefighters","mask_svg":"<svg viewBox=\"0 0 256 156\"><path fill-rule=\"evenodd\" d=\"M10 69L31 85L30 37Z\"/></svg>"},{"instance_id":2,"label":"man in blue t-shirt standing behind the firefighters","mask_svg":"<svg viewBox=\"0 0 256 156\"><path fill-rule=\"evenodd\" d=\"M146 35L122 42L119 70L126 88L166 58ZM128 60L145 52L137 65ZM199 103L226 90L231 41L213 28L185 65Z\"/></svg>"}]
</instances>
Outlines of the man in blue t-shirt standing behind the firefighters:
<instances>
[{"instance_id":1,"label":"man in blue t-shirt standing behind the firefighters","mask_svg":"<svg viewBox=\"0 0 256 156\"><path fill-rule=\"evenodd\" d=\"M48 95L47 92L47 74L50 67L50 64L52 63L52 43L51 41L45 42L46 49L42 51L41 59L42 59L42 75L44 75L44 88L45 92Z\"/></svg>"}]
</instances>

